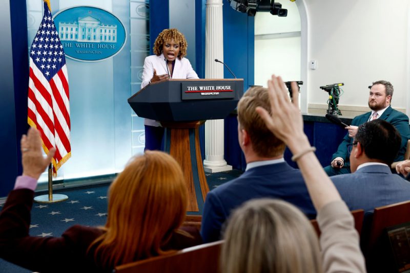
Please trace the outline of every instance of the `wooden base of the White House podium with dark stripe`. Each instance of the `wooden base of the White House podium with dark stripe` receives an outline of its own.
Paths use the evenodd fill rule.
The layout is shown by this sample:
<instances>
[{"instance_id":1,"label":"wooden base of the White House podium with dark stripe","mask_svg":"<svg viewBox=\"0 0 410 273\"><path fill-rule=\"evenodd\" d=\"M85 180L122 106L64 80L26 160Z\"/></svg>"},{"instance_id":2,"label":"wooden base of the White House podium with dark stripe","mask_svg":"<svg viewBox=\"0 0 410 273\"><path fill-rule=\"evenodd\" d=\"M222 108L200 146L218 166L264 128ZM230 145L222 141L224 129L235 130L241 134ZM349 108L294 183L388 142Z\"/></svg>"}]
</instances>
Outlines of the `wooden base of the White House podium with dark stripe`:
<instances>
[{"instance_id":1,"label":"wooden base of the White House podium with dark stripe","mask_svg":"<svg viewBox=\"0 0 410 273\"><path fill-rule=\"evenodd\" d=\"M209 192L199 146L199 126L204 122L161 122L165 127L165 151L179 163L187 182L188 215L202 215Z\"/></svg>"}]
</instances>

